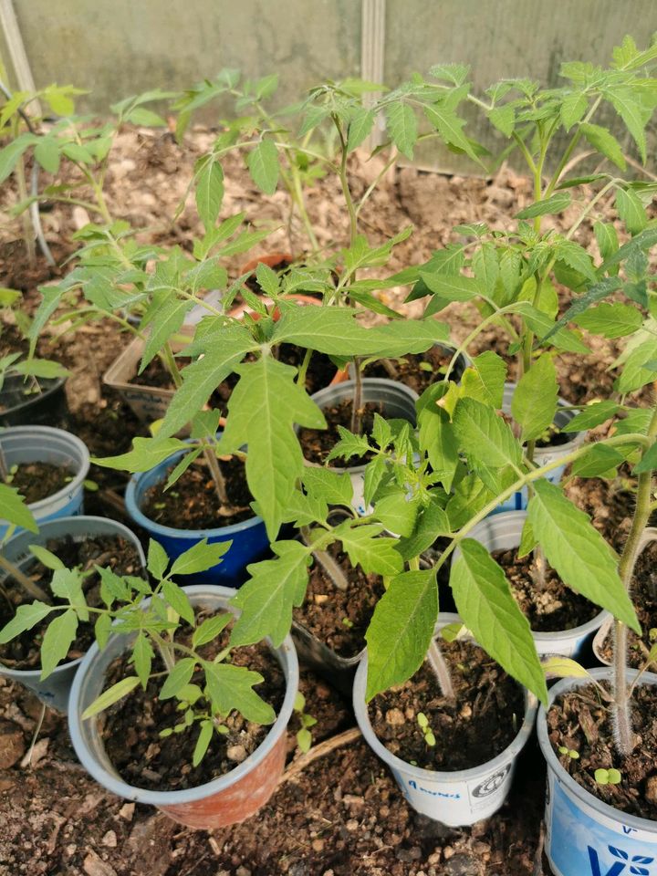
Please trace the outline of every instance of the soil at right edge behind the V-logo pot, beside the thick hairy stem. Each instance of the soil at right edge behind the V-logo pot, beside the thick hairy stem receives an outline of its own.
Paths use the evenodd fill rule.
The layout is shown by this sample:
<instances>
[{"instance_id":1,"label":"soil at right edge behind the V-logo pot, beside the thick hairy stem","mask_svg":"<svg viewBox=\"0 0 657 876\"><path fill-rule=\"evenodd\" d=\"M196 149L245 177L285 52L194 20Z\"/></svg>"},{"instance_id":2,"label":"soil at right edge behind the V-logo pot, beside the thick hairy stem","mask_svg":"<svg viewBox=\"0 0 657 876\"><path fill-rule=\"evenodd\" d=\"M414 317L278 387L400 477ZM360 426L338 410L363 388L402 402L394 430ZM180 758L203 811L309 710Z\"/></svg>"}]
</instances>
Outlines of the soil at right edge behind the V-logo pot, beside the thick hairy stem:
<instances>
[{"instance_id":1,"label":"soil at right edge behind the V-logo pot, beside the thick hairy stem","mask_svg":"<svg viewBox=\"0 0 657 876\"><path fill-rule=\"evenodd\" d=\"M628 631L628 665L641 668L648 652L657 639L657 542L652 542L641 551L634 567L631 584L631 600L636 609L641 636L633 630ZM612 659L612 634L605 637L602 656L609 662ZM650 667L654 672L654 665Z\"/></svg>"}]
</instances>

